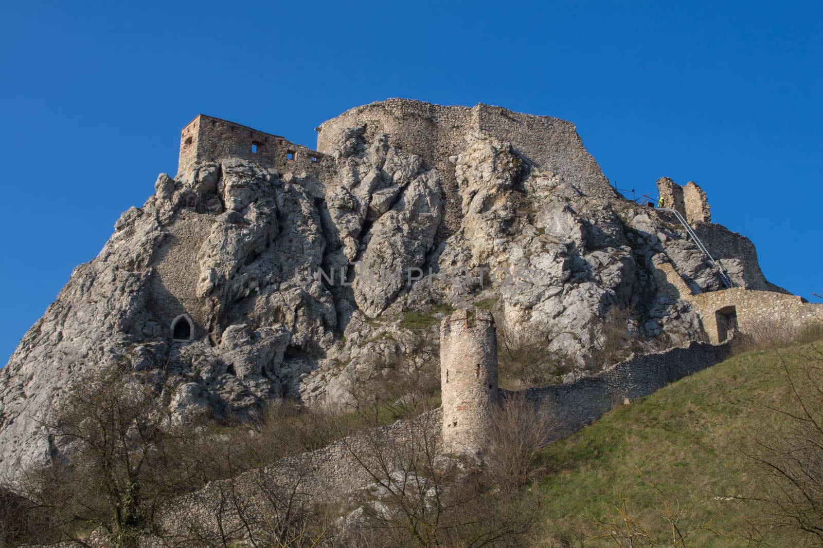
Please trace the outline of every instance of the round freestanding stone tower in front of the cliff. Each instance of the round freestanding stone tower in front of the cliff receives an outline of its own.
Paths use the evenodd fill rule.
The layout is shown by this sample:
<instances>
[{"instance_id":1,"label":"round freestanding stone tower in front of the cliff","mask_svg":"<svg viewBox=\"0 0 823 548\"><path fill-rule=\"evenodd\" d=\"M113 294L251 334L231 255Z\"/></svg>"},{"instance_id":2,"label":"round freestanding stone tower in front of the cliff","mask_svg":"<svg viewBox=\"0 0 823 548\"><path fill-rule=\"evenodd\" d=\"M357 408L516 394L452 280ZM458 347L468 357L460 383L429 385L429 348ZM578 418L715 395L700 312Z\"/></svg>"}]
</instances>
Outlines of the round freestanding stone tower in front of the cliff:
<instances>
[{"instance_id":1,"label":"round freestanding stone tower in front of the cliff","mask_svg":"<svg viewBox=\"0 0 823 548\"><path fill-rule=\"evenodd\" d=\"M490 312L461 310L440 325L443 441L452 453L481 454L499 404L497 336Z\"/></svg>"}]
</instances>

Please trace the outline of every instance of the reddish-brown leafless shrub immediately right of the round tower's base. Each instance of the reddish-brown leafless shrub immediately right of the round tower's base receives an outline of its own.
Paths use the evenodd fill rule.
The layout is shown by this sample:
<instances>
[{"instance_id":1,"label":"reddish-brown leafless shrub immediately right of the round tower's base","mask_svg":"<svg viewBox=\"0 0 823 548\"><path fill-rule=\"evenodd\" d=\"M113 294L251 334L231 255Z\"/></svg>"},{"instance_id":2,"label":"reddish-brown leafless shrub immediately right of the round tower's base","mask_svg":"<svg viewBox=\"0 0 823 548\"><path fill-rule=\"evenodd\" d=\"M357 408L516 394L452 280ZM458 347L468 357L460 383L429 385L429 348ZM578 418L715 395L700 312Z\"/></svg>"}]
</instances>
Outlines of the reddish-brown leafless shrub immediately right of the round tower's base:
<instances>
[{"instance_id":1,"label":"reddish-brown leafless shrub immediately right of the round tower's base","mask_svg":"<svg viewBox=\"0 0 823 548\"><path fill-rule=\"evenodd\" d=\"M486 474L504 494L514 495L537 472L537 450L559 427L548 407L528 402L523 394L509 394L492 414Z\"/></svg>"}]
</instances>

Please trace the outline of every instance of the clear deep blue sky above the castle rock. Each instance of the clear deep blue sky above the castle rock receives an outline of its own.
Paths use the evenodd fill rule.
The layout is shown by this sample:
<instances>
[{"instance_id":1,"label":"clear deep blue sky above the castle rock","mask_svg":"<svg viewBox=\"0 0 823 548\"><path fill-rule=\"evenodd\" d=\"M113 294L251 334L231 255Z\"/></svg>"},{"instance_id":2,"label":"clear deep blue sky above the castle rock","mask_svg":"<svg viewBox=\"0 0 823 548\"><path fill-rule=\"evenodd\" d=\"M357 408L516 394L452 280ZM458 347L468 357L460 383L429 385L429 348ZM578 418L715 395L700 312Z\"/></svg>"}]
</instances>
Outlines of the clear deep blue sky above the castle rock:
<instances>
[{"instance_id":1,"label":"clear deep blue sky above the castle rock","mask_svg":"<svg viewBox=\"0 0 823 548\"><path fill-rule=\"evenodd\" d=\"M388 97L570 120L620 187L698 182L810 297L821 30L823 2L2 2L0 365L195 115L314 148Z\"/></svg>"}]
</instances>

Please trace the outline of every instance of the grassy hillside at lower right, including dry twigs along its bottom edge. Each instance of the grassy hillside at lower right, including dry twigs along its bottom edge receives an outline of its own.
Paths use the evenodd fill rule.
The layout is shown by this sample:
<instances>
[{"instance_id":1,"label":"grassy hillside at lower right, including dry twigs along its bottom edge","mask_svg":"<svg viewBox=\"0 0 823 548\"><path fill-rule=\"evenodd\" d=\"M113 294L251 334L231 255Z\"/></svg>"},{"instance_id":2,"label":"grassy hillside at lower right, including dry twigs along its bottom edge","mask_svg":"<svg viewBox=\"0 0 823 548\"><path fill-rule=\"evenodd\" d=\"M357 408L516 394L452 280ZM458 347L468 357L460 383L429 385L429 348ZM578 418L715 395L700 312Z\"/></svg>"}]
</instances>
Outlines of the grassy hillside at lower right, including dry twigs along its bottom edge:
<instances>
[{"instance_id":1,"label":"grassy hillside at lower right, including dry twigs along its bottom edge","mask_svg":"<svg viewBox=\"0 0 823 548\"><path fill-rule=\"evenodd\" d=\"M680 532L697 529L692 544L677 546L815 540L797 527L777 527L786 520L770 515L773 504L757 502L772 496L769 478L746 454L762 449L760 442L780 443L775 436L787 417L779 410L797 408L793 385L800 389L816 348L821 344L732 357L542 449L539 544L673 546L666 504ZM617 536L625 535L625 518L637 533L633 545L610 534L622 526Z\"/></svg>"}]
</instances>

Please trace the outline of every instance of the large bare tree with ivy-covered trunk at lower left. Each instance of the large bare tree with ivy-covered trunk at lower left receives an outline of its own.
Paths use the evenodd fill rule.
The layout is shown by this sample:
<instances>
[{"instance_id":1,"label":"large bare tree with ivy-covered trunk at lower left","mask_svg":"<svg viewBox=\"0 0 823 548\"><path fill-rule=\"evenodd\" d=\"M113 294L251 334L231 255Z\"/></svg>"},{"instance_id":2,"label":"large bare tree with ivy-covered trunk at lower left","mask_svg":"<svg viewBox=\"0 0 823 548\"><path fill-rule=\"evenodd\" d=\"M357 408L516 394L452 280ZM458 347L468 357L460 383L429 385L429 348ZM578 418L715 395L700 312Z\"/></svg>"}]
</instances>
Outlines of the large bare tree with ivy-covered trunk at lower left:
<instances>
[{"instance_id":1,"label":"large bare tree with ivy-covered trunk at lower left","mask_svg":"<svg viewBox=\"0 0 823 548\"><path fill-rule=\"evenodd\" d=\"M47 515L40 539L85 545L105 532L114 546L134 546L157 505L188 488L192 464L179 458L186 431L170 420L156 385L104 368L78 379L44 426L71 458L24 472L16 490Z\"/></svg>"}]
</instances>

